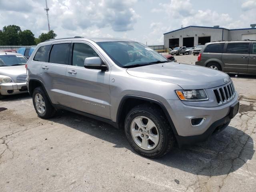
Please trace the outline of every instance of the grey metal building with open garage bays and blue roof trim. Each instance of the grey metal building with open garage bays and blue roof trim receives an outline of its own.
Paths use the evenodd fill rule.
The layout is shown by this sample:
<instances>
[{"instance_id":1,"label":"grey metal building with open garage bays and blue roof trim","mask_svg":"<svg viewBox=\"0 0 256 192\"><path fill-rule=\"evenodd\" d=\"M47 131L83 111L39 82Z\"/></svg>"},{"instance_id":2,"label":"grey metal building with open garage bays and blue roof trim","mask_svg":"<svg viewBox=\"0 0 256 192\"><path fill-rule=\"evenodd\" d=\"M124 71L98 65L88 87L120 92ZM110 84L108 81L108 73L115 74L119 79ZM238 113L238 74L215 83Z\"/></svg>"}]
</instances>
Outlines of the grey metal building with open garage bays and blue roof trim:
<instances>
[{"instance_id":1,"label":"grey metal building with open garage bays and blue roof trim","mask_svg":"<svg viewBox=\"0 0 256 192\"><path fill-rule=\"evenodd\" d=\"M193 47L196 44L206 44L214 41L256 40L255 24L252 28L226 29L219 26L203 27L188 26L164 33L164 49L178 46Z\"/></svg>"}]
</instances>

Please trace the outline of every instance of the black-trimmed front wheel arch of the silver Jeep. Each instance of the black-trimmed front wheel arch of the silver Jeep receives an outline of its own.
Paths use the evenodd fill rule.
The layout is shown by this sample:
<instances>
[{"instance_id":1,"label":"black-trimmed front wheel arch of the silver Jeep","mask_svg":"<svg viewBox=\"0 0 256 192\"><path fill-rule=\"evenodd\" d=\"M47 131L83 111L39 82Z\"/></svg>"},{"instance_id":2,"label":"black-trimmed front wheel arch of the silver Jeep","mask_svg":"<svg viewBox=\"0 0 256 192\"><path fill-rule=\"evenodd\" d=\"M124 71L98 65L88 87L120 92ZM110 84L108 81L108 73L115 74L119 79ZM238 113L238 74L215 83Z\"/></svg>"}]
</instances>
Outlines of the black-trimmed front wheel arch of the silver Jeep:
<instances>
[{"instance_id":1,"label":"black-trimmed front wheel arch of the silver Jeep","mask_svg":"<svg viewBox=\"0 0 256 192\"><path fill-rule=\"evenodd\" d=\"M131 104L132 103L132 104ZM174 132L174 135L178 135L176 128L172 122L172 118L170 117L167 109L165 108L164 104L158 100L154 100L152 98L146 98L142 96L135 96L135 95L126 95L122 98L120 101L120 104L118 106L117 114L116 114L116 122L118 123L118 127L121 128L122 125L124 124L124 120L126 117L126 114L135 106L138 104L142 103L151 103L154 104L155 106L158 106L163 112L164 115L166 116L172 131Z\"/></svg>"}]
</instances>

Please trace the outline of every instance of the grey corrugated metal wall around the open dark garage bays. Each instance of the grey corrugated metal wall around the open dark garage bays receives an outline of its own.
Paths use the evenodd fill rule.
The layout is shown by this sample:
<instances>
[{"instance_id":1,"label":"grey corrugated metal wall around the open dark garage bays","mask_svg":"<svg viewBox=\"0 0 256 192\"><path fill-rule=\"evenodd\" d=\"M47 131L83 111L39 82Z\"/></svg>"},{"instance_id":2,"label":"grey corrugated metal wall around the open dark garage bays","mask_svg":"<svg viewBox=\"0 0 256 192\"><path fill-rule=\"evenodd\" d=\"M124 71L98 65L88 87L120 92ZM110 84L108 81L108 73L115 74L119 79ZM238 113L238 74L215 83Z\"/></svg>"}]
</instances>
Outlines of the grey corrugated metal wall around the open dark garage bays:
<instances>
[{"instance_id":1,"label":"grey corrugated metal wall around the open dark garage bays","mask_svg":"<svg viewBox=\"0 0 256 192\"><path fill-rule=\"evenodd\" d=\"M198 37L204 36L211 36L211 42L222 40L222 28L188 27L170 32L164 35L164 48L169 48L169 39L179 38L179 44L182 46L184 37L194 37L194 45L196 45L198 44Z\"/></svg>"}]
</instances>

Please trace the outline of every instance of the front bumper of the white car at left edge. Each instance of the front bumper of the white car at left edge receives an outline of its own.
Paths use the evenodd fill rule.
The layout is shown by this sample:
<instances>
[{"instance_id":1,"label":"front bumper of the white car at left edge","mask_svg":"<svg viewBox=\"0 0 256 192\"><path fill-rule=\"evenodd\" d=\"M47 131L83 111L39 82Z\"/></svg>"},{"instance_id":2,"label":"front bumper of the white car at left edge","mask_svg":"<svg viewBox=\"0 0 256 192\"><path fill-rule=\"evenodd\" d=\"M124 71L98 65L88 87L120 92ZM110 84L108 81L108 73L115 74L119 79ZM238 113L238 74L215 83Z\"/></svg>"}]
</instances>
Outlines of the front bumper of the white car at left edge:
<instances>
[{"instance_id":1,"label":"front bumper of the white car at left edge","mask_svg":"<svg viewBox=\"0 0 256 192\"><path fill-rule=\"evenodd\" d=\"M0 84L1 95L13 95L28 92L26 82Z\"/></svg>"}]
</instances>

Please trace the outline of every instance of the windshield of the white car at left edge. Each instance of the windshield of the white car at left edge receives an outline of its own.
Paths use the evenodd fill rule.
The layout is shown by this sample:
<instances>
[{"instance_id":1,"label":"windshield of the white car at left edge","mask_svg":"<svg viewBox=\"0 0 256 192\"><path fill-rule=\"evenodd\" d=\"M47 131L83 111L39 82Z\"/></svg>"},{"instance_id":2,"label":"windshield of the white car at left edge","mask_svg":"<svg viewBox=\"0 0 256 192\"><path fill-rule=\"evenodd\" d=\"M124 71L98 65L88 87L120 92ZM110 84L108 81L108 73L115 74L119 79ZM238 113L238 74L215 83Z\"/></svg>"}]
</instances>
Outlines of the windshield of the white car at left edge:
<instances>
[{"instance_id":1,"label":"windshield of the white car at left edge","mask_svg":"<svg viewBox=\"0 0 256 192\"><path fill-rule=\"evenodd\" d=\"M0 66L24 65L26 62L22 55L0 55Z\"/></svg>"}]
</instances>

